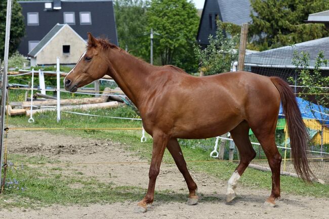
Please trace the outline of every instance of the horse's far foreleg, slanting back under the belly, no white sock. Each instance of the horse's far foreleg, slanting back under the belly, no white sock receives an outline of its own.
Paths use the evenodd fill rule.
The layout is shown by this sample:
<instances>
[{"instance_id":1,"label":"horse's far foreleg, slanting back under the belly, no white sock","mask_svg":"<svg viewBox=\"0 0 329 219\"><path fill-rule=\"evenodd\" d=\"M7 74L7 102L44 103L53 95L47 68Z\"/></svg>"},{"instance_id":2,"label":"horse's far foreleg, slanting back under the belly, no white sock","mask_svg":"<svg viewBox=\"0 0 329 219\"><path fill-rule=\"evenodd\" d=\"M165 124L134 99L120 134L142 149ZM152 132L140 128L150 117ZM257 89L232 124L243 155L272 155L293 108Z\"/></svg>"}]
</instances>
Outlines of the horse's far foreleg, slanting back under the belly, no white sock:
<instances>
[{"instance_id":1,"label":"horse's far foreleg, slanting back under the belly, no white sock","mask_svg":"<svg viewBox=\"0 0 329 219\"><path fill-rule=\"evenodd\" d=\"M179 169L179 171L183 174L183 177L186 181L188 190L189 190L189 196L188 196L188 205L194 205L198 201L198 196L195 195L195 191L197 190L197 186L194 183L189 171L187 170L186 162L184 160L184 156L181 150L181 147L178 144L177 139L170 139L167 145L167 149L173 156L175 163Z\"/></svg>"}]
</instances>

